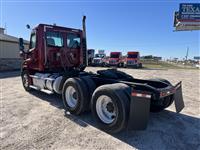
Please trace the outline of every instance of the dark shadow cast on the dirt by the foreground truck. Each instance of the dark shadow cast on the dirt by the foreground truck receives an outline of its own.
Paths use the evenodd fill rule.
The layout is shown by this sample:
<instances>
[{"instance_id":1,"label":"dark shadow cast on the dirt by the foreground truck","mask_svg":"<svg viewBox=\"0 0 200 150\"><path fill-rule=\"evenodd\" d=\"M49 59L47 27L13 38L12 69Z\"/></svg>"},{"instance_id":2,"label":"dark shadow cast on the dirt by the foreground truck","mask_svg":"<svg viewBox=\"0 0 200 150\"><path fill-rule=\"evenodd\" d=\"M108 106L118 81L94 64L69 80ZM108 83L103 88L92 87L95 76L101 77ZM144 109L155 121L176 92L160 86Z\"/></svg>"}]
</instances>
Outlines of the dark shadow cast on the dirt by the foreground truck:
<instances>
[{"instance_id":1,"label":"dark shadow cast on the dirt by the foreground truck","mask_svg":"<svg viewBox=\"0 0 200 150\"><path fill-rule=\"evenodd\" d=\"M59 109L64 109L60 95L47 95L38 91L33 91L31 94ZM80 116L65 113L65 117L81 127L91 125L99 129L90 112ZM195 150L200 148L200 119L165 110L160 113L150 113L146 130L123 131L111 136L137 149Z\"/></svg>"}]
</instances>

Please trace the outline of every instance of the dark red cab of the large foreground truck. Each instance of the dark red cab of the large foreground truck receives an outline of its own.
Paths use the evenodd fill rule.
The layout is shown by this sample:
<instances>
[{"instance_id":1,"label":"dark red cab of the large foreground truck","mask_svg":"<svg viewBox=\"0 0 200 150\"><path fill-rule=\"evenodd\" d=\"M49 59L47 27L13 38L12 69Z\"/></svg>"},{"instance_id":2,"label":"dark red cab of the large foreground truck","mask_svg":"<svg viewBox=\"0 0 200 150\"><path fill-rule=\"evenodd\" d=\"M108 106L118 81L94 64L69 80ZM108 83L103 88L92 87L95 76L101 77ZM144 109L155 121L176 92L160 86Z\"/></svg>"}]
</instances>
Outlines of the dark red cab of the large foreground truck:
<instances>
[{"instance_id":1,"label":"dark red cab of the large foreground truck","mask_svg":"<svg viewBox=\"0 0 200 150\"><path fill-rule=\"evenodd\" d=\"M23 45L23 39L20 39ZM32 29L28 50L21 46L23 69L41 72L84 69L86 43L80 29L39 24Z\"/></svg>"}]
</instances>

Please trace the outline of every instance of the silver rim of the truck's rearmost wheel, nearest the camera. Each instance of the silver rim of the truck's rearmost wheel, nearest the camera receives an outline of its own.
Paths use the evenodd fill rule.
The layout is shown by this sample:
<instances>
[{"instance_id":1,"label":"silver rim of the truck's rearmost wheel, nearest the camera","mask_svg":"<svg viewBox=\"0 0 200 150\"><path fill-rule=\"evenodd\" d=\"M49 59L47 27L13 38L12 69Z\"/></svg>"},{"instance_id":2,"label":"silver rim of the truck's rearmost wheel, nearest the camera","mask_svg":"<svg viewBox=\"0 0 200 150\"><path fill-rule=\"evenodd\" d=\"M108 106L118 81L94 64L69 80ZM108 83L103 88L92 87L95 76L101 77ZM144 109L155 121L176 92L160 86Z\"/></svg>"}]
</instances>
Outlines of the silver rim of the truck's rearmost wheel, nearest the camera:
<instances>
[{"instance_id":1,"label":"silver rim of the truck's rearmost wheel, nearest the camera","mask_svg":"<svg viewBox=\"0 0 200 150\"><path fill-rule=\"evenodd\" d=\"M96 102L96 112L101 121L111 124L116 119L116 106L107 95L101 95Z\"/></svg>"}]
</instances>

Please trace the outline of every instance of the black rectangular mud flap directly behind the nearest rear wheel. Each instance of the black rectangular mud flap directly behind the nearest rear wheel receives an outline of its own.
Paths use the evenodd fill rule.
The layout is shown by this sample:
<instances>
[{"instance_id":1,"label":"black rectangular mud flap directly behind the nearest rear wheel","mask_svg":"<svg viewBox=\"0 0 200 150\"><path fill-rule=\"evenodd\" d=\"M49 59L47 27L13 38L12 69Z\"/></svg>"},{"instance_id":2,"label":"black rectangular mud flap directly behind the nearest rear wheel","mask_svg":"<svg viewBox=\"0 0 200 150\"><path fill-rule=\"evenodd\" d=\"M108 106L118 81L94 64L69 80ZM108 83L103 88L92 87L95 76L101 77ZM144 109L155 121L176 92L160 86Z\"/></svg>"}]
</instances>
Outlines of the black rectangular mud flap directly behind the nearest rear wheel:
<instances>
[{"instance_id":1,"label":"black rectangular mud flap directly behind the nearest rear wheel","mask_svg":"<svg viewBox=\"0 0 200 150\"><path fill-rule=\"evenodd\" d=\"M131 96L128 130L144 130L147 127L150 112L150 99Z\"/></svg>"}]
</instances>

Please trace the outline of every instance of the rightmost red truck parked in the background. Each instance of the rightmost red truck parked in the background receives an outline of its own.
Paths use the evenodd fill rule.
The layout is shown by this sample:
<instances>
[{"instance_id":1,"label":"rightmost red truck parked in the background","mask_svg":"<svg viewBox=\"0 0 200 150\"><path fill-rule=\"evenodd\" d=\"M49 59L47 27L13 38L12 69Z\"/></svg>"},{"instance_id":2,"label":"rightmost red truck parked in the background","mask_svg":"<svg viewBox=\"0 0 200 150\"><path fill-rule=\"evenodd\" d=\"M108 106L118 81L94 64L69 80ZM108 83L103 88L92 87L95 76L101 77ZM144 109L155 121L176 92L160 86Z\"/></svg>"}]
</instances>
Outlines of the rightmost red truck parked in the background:
<instances>
[{"instance_id":1,"label":"rightmost red truck parked in the background","mask_svg":"<svg viewBox=\"0 0 200 150\"><path fill-rule=\"evenodd\" d=\"M135 51L128 52L124 61L124 66L142 68L142 63L140 62L140 53Z\"/></svg>"}]
</instances>

